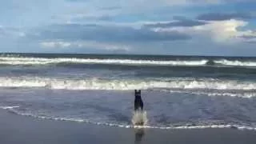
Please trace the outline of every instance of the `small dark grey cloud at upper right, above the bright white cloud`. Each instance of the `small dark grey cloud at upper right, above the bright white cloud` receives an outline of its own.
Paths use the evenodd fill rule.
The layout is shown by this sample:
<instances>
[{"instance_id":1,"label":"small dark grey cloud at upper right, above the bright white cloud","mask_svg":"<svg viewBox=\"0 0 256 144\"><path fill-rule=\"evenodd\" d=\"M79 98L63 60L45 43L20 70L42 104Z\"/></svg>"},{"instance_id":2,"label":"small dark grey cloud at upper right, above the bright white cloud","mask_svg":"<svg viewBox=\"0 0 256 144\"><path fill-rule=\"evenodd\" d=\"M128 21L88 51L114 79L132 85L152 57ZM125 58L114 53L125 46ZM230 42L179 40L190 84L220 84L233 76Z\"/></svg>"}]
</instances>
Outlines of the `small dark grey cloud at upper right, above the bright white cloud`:
<instances>
[{"instance_id":1,"label":"small dark grey cloud at upper right, above the bright white cloud","mask_svg":"<svg viewBox=\"0 0 256 144\"><path fill-rule=\"evenodd\" d=\"M251 19L253 16L247 13L208 13L198 15L199 20L225 21L230 19Z\"/></svg>"}]
</instances>

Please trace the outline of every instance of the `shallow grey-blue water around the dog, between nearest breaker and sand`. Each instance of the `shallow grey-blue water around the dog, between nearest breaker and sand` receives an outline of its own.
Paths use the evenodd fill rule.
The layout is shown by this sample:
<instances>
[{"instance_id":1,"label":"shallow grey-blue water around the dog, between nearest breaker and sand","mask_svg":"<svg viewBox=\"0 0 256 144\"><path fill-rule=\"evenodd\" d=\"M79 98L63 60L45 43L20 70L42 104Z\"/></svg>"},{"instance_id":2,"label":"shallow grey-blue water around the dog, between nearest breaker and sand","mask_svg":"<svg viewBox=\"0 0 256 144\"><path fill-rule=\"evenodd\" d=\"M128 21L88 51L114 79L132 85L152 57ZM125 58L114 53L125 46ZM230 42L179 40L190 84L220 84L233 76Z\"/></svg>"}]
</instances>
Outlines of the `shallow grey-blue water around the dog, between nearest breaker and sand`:
<instances>
[{"instance_id":1,"label":"shallow grey-blue water around the dog, between nearest breaker and sand","mask_svg":"<svg viewBox=\"0 0 256 144\"><path fill-rule=\"evenodd\" d=\"M1 106L15 114L131 127L131 90L1 90ZM256 99L142 91L152 128L256 127ZM4 107L14 106L14 107Z\"/></svg>"}]
</instances>

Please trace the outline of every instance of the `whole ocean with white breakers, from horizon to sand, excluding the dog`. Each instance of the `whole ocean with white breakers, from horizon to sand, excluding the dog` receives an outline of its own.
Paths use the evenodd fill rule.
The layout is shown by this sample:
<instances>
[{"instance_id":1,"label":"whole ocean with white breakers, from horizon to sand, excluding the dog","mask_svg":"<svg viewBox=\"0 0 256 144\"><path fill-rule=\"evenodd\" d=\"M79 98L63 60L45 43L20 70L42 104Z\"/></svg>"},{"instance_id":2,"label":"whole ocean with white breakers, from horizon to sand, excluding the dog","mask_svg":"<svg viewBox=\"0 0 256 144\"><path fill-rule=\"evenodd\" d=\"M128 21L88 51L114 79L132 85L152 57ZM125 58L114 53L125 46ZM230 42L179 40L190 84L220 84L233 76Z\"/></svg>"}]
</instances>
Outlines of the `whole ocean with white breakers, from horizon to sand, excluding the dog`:
<instances>
[{"instance_id":1,"label":"whole ocean with white breakers, from horizon to sand, excluding the dog","mask_svg":"<svg viewBox=\"0 0 256 144\"><path fill-rule=\"evenodd\" d=\"M130 128L256 130L256 58L0 54L0 107L56 121Z\"/></svg>"}]
</instances>

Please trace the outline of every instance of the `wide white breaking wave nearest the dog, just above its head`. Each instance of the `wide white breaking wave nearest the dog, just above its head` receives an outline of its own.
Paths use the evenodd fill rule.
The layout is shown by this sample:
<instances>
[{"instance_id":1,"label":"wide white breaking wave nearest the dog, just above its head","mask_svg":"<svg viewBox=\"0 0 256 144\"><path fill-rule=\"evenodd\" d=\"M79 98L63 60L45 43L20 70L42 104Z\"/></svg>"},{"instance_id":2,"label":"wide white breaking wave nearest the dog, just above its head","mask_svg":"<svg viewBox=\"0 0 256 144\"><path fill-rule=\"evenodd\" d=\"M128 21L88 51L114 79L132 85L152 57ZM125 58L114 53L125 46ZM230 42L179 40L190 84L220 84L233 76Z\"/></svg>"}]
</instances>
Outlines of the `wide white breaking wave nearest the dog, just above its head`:
<instances>
[{"instance_id":1,"label":"wide white breaking wave nearest the dog, just above its head","mask_svg":"<svg viewBox=\"0 0 256 144\"><path fill-rule=\"evenodd\" d=\"M219 80L214 78L185 78L165 80L116 79L58 79L39 77L0 77L0 87L42 87L66 90L169 90L169 89L210 89L210 90L256 90L256 82Z\"/></svg>"}]
</instances>

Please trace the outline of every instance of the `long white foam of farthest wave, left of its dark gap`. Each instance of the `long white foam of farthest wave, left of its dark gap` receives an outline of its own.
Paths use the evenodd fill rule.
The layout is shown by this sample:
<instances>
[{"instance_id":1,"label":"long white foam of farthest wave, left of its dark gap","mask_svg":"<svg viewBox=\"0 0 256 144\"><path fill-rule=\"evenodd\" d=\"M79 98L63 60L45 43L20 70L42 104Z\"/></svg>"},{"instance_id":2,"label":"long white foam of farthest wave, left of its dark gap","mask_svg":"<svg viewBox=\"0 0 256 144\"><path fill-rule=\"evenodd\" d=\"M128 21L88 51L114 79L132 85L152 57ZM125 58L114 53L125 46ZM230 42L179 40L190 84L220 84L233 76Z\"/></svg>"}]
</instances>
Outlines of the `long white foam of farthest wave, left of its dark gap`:
<instances>
[{"instance_id":1,"label":"long white foam of farthest wave, left of its dark gap","mask_svg":"<svg viewBox=\"0 0 256 144\"><path fill-rule=\"evenodd\" d=\"M154 61L133 59L97 59L97 58L18 58L0 57L0 64L4 65L46 65L57 63L85 63L85 64L119 64L119 65L162 65L162 66L203 66L207 60L194 61Z\"/></svg>"}]
</instances>

